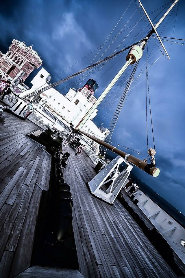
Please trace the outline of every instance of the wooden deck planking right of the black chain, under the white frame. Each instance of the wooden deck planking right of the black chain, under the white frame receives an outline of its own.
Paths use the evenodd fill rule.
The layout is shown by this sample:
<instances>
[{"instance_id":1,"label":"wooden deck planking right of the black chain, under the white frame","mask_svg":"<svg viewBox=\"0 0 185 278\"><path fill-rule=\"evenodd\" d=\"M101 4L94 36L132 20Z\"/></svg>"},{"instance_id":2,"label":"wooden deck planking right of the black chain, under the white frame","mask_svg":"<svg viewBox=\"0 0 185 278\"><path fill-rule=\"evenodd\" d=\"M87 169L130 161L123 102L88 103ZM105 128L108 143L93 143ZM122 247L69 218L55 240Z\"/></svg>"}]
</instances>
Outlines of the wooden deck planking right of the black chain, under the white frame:
<instances>
[{"instance_id":1,"label":"wooden deck planking right of the black chain, under the white frame","mask_svg":"<svg viewBox=\"0 0 185 278\"><path fill-rule=\"evenodd\" d=\"M73 229L84 277L177 277L143 234L132 216L116 200L111 206L93 197L86 182L95 175L85 153L71 153L64 180L73 196Z\"/></svg>"}]
</instances>

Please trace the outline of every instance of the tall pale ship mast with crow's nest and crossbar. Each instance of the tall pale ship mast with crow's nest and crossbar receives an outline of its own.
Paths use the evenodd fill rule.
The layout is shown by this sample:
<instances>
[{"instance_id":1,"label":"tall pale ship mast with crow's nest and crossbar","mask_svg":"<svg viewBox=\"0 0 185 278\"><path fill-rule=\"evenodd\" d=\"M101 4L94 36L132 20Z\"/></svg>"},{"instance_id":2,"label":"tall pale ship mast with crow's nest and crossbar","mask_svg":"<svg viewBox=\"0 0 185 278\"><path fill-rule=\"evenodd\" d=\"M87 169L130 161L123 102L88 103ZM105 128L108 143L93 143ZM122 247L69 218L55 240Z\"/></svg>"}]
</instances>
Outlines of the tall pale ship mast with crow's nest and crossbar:
<instances>
[{"instance_id":1,"label":"tall pale ship mast with crow's nest and crossbar","mask_svg":"<svg viewBox=\"0 0 185 278\"><path fill-rule=\"evenodd\" d=\"M151 26L152 26L152 30L147 34L147 36L142 40L142 42L140 43L140 45L134 45L131 50L129 51L127 57L126 57L126 63L125 65L123 65L123 67L120 69L120 71L116 74L116 76L112 79L112 81L110 82L110 84L106 87L106 89L103 91L103 93L100 95L100 97L97 99L97 101L94 103L94 105L92 105L92 107L90 108L90 110L86 113L86 115L82 118L82 120L79 122L79 124L75 127L76 129L81 129L83 127L83 125L86 123L86 121L90 118L90 116L92 115L92 113L95 111L95 109L99 106L99 104L101 103L101 101L105 98L105 96L108 94L108 92L110 91L110 89L113 87L113 85L116 83L116 81L120 78L120 76L123 74L123 72L125 71L125 69L127 69L127 67L129 65L134 64L135 62L137 62L142 56L143 56L143 48L146 45L149 37L153 34L156 33L156 36L158 37L164 51L166 52L166 55L169 58L168 52L166 51L166 48L164 47L158 32L157 32L157 28L159 27L159 25L161 24L161 22L164 20L164 18L167 16L167 14L171 11L171 9L175 6L175 4L179 1L179 0L175 0L173 2L173 4L170 6L170 8L165 12L165 14L161 17L161 19L158 21L158 23L156 23L156 25L154 26L151 19L149 18L149 15L147 14L146 10L144 9L142 3L140 0L138 0L140 3L140 6L143 8L144 13L146 14ZM132 82L132 80L131 80ZM119 116L119 115L118 115Z\"/></svg>"}]
</instances>

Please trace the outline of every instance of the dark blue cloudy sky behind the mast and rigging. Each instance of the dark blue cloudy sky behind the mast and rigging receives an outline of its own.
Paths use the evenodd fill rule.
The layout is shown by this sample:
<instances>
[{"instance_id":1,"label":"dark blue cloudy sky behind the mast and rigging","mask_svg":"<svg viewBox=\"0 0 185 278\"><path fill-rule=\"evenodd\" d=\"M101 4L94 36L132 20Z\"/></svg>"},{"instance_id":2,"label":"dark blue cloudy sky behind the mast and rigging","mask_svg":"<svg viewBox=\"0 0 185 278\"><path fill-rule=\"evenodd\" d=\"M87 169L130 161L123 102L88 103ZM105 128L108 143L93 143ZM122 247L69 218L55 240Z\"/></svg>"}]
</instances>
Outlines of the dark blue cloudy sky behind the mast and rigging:
<instances>
[{"instance_id":1,"label":"dark blue cloudy sky behind the mast and rigging","mask_svg":"<svg viewBox=\"0 0 185 278\"><path fill-rule=\"evenodd\" d=\"M143 0L142 2L154 23L160 19L162 10L166 11L172 3L167 0ZM136 4L135 0L132 2L129 0L3 1L0 11L0 50L5 53L12 39L33 45L34 50L42 58L43 67L51 73L52 82L55 82L86 67L93 59L97 61L101 56L108 56L115 50L142 39L150 26ZM185 39L184 8L184 1L180 1L179 6L174 8L170 17L168 16L158 28L161 36L172 37L173 35L174 38ZM119 35L116 36L117 34ZM103 45L107 38L107 42ZM133 167L133 172L185 214L185 45L165 41L163 43L170 54L170 60L162 55L156 39L151 38L148 45L149 91L157 152L156 165L161 172L158 178L153 178L136 167ZM113 142L144 154L147 153L146 53L147 47L135 78L140 73L143 74L133 81L131 88L134 87L129 92L112 136ZM77 77L63 83L57 89L62 94L66 94L70 86L79 87L88 78L94 78L99 84L99 90L96 92L96 97L99 97L125 63L126 55L127 51L103 67L93 69L87 76L79 76L80 80L77 80L79 78ZM131 70L132 67L127 69L123 78L120 78L99 106L99 113L94 119L97 125L103 123L103 126L109 126L124 88L124 82ZM30 85L29 81L36 73L35 70L29 76L27 85ZM150 121L148 129L149 147L153 147ZM133 151L129 153L137 156ZM139 157L145 158L141 154Z\"/></svg>"}]
</instances>

